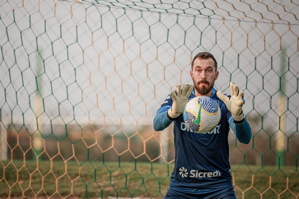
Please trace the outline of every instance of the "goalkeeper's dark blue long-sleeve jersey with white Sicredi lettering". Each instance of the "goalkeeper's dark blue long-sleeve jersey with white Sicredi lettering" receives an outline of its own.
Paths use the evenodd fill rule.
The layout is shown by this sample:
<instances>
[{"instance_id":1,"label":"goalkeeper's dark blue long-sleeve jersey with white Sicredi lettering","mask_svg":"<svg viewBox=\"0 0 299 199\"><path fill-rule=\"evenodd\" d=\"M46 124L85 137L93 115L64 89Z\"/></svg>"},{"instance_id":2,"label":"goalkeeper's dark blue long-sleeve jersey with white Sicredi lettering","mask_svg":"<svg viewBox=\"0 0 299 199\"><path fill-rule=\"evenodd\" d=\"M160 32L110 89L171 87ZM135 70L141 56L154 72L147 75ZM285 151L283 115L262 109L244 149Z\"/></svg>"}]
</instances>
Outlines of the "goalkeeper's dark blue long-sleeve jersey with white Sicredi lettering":
<instances>
[{"instance_id":1,"label":"goalkeeper's dark blue long-sleeve jersey with white Sicredi lettering","mask_svg":"<svg viewBox=\"0 0 299 199\"><path fill-rule=\"evenodd\" d=\"M194 98L194 90L188 100ZM235 124L230 111L217 97L213 88L211 98L221 109L221 119L214 129L206 133L193 132L184 122L183 114L174 119L175 160L170 185L193 188L220 188L231 186L229 163L228 134L230 127L237 139L248 144L251 139L251 128L244 118L242 124ZM172 121L167 111L173 103L170 95L157 111L154 118L154 129L161 131Z\"/></svg>"}]
</instances>

